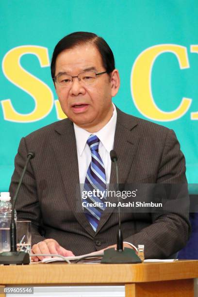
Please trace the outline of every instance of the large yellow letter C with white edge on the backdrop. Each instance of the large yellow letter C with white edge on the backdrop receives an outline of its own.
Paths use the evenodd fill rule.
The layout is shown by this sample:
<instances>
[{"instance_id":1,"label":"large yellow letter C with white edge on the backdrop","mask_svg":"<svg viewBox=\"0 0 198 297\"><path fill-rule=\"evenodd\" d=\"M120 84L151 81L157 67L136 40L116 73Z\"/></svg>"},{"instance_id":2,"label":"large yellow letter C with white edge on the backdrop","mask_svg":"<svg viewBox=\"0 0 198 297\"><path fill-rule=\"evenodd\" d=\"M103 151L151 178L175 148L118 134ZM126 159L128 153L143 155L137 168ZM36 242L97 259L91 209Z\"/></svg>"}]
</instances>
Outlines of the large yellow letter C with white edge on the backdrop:
<instances>
[{"instance_id":1,"label":"large yellow letter C with white edge on the backdrop","mask_svg":"<svg viewBox=\"0 0 198 297\"><path fill-rule=\"evenodd\" d=\"M151 90L151 73L155 59L162 53L172 52L178 58L180 68L188 68L188 56L185 47L174 44L162 44L144 50L135 60L131 74L132 99L142 115L156 121L172 121L184 115L191 99L183 98L179 107L172 112L160 110L154 102Z\"/></svg>"}]
</instances>

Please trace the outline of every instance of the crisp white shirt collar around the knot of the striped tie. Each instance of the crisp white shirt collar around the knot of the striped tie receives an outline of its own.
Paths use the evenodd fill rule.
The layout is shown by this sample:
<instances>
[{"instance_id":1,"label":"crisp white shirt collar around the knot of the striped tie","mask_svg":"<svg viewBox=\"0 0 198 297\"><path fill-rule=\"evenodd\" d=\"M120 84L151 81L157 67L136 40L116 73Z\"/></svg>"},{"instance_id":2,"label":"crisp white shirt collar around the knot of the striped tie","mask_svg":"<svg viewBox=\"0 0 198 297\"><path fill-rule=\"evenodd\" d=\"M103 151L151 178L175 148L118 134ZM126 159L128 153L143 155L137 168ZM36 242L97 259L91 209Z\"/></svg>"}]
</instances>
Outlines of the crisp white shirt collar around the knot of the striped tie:
<instances>
[{"instance_id":1,"label":"crisp white shirt collar around the knot of the striped tie","mask_svg":"<svg viewBox=\"0 0 198 297\"><path fill-rule=\"evenodd\" d=\"M113 107L114 107L114 112L112 117L108 121L108 123L104 127L102 127L102 129L100 129L98 132L92 133L97 137L99 137L100 142L109 153L114 146L115 126L116 126L116 120L117 120L117 112L114 104L113 104ZM85 148L87 139L91 133L80 128L75 123L74 123L74 132L76 137L77 150L81 156Z\"/></svg>"}]
</instances>

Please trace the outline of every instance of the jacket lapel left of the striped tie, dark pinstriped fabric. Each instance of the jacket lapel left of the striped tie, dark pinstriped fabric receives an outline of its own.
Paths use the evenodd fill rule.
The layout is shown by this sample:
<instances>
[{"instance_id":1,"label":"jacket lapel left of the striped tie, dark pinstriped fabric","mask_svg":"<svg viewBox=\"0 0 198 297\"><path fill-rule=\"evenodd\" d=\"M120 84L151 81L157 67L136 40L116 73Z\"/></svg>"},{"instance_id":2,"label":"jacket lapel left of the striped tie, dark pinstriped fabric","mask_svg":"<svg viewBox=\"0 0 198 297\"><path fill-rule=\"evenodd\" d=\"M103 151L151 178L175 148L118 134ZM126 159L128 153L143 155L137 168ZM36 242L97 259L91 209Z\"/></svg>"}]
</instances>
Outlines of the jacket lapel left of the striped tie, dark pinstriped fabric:
<instances>
[{"instance_id":1,"label":"jacket lapel left of the striped tie, dark pinstriped fabric","mask_svg":"<svg viewBox=\"0 0 198 297\"><path fill-rule=\"evenodd\" d=\"M57 122L51 144L65 185L67 203L80 225L94 236L95 232L82 211L76 138L73 123L69 119Z\"/></svg>"}]
</instances>

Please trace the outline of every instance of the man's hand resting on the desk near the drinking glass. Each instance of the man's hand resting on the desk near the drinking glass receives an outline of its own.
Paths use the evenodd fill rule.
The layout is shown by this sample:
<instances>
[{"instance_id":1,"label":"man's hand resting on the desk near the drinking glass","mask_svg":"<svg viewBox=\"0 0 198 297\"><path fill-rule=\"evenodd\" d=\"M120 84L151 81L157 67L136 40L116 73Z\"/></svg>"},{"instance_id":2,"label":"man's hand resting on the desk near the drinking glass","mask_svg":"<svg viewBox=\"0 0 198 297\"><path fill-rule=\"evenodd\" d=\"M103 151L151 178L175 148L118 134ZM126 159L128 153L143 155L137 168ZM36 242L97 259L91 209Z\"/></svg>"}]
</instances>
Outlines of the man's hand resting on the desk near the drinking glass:
<instances>
[{"instance_id":1,"label":"man's hand resting on the desk near the drinking glass","mask_svg":"<svg viewBox=\"0 0 198 297\"><path fill-rule=\"evenodd\" d=\"M36 245L33 245L32 247L32 253L33 254L56 254L56 255L62 255L64 257L68 256L74 256L72 251L65 249L64 247L61 247L58 242L54 239L45 239L44 241L41 241L37 243ZM33 262L38 262L39 260L42 261L46 257L38 256L38 257L32 257Z\"/></svg>"}]
</instances>

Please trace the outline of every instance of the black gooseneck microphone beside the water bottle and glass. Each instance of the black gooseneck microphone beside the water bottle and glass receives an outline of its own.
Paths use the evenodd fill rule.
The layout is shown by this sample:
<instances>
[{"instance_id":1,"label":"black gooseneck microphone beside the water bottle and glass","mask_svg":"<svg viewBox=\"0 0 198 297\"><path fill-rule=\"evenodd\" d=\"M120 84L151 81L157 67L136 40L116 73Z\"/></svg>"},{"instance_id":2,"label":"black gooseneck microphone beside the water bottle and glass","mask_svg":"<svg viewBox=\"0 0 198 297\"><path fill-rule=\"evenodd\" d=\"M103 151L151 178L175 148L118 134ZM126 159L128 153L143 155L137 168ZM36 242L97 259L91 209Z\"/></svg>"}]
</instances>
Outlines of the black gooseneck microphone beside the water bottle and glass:
<instances>
[{"instance_id":1,"label":"black gooseneck microphone beside the water bottle and glass","mask_svg":"<svg viewBox=\"0 0 198 297\"><path fill-rule=\"evenodd\" d=\"M27 160L16 188L15 196L13 198L13 203L12 203L12 216L11 216L11 223L10 223L10 251L2 252L0 254L0 264L8 265L8 264L29 264L30 263L30 256L28 253L16 251L16 223L14 219L14 211L15 211L16 199L18 197L18 192L20 190L21 183L23 181L23 177L25 175L28 163L30 162L31 159L34 158L34 156L35 156L35 153L32 151L30 151L27 154Z\"/></svg>"}]
</instances>

